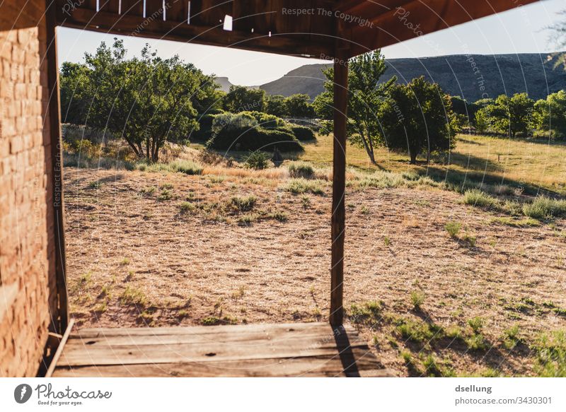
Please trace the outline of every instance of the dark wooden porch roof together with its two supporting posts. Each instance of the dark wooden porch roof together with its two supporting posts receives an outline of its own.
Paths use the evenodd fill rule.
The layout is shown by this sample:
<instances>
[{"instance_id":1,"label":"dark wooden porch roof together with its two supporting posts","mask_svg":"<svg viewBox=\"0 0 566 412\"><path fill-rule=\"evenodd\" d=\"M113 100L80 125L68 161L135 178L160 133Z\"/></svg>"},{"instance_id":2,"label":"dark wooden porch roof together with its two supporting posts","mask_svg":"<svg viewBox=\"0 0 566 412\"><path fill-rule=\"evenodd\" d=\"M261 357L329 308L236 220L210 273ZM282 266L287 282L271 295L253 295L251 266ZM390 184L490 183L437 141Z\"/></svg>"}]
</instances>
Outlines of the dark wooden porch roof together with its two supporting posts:
<instances>
[{"instance_id":1,"label":"dark wooden porch roof together with its two supporting posts","mask_svg":"<svg viewBox=\"0 0 566 412\"><path fill-rule=\"evenodd\" d=\"M62 182L55 26L256 52L334 59L330 323L341 325L350 57L538 0L54 0L47 2L52 184ZM224 20L233 20L224 30ZM67 328L63 196L54 205L56 277Z\"/></svg>"}]
</instances>

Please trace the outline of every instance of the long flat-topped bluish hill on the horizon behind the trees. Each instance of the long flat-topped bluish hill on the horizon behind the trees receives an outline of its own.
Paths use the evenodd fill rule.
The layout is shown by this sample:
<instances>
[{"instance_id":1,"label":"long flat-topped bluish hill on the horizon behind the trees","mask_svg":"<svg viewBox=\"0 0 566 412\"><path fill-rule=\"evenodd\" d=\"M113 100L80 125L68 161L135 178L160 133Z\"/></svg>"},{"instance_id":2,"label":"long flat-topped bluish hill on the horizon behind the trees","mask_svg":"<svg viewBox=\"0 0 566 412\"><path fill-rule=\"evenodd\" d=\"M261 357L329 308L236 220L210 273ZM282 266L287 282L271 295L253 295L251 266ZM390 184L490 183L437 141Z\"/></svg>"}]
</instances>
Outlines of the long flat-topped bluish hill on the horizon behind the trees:
<instances>
[{"instance_id":1,"label":"long flat-topped bluish hill on the horizon behind the trees","mask_svg":"<svg viewBox=\"0 0 566 412\"><path fill-rule=\"evenodd\" d=\"M469 102L498 95L527 92L533 99L566 89L566 71L554 69L546 54L454 54L420 59L388 59L388 70L381 78L396 75L399 81L425 76L439 83L442 90ZM473 66L475 64L475 66ZM315 98L323 92L321 69L328 64L308 64L289 71L282 78L260 86L270 95L306 93ZM483 81L482 77L483 76ZM482 89L482 87L484 89Z\"/></svg>"}]
</instances>

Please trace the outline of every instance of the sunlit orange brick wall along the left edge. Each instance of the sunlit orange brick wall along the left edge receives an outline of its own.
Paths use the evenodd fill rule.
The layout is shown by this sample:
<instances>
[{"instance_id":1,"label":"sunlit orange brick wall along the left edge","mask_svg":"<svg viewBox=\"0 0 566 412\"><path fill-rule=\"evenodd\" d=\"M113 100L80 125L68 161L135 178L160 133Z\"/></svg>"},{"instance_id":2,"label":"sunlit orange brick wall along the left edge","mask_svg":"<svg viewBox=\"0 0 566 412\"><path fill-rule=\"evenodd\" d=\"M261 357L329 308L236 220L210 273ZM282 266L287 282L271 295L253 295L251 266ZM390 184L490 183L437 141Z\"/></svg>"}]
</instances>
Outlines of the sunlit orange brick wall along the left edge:
<instances>
[{"instance_id":1,"label":"sunlit orange brick wall along the left edge","mask_svg":"<svg viewBox=\"0 0 566 412\"><path fill-rule=\"evenodd\" d=\"M36 375L57 307L44 15L0 5L0 377Z\"/></svg>"}]
</instances>

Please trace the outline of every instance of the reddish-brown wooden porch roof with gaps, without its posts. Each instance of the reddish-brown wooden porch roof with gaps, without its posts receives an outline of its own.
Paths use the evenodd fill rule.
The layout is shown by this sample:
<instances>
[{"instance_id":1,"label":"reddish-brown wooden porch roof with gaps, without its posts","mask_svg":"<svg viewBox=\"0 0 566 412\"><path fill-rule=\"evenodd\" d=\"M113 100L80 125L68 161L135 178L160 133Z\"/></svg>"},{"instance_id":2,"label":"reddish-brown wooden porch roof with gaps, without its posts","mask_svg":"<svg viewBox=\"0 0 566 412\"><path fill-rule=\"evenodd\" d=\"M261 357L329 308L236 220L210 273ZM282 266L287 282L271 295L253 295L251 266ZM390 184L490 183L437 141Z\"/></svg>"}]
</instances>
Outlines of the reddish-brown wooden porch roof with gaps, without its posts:
<instances>
[{"instance_id":1,"label":"reddish-brown wooden porch roof with gaps, without its posts","mask_svg":"<svg viewBox=\"0 0 566 412\"><path fill-rule=\"evenodd\" d=\"M57 24L153 37L333 58L346 57L537 0L55 0ZM224 30L231 16L233 28Z\"/></svg>"}]
</instances>

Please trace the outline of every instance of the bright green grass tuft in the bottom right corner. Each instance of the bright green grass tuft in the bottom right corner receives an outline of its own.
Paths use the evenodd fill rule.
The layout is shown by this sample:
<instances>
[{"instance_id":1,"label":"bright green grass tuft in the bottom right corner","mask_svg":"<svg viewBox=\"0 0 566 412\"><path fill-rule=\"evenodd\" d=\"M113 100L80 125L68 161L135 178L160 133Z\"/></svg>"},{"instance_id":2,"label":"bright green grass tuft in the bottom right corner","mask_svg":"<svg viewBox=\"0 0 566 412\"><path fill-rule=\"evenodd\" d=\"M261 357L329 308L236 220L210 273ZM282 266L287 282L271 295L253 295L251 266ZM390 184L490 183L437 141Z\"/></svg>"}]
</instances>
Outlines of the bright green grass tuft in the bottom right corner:
<instances>
[{"instance_id":1,"label":"bright green grass tuft in the bottom right corner","mask_svg":"<svg viewBox=\"0 0 566 412\"><path fill-rule=\"evenodd\" d=\"M566 377L566 329L541 334L531 349L536 352L538 376Z\"/></svg>"}]
</instances>

